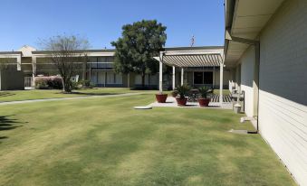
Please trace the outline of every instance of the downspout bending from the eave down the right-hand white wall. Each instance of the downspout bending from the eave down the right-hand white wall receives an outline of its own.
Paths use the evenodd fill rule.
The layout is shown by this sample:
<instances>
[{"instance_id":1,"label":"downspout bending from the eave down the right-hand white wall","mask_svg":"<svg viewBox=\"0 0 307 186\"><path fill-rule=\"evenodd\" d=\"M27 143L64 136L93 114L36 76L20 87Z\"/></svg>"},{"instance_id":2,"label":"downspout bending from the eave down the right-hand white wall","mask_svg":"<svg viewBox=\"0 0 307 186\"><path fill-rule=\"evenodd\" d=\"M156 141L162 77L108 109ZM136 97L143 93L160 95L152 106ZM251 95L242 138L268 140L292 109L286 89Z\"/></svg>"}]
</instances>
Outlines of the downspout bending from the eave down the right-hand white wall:
<instances>
[{"instance_id":1,"label":"downspout bending from the eave down the right-hand white wall","mask_svg":"<svg viewBox=\"0 0 307 186\"><path fill-rule=\"evenodd\" d=\"M249 45L254 45L255 50L255 56L254 56L254 82L253 82L253 88L256 86L256 109L254 109L256 112L254 113L254 116L256 116L256 131L248 131L248 134L258 134L259 133L259 74L260 74L260 42L255 40L249 40L245 38L239 38L239 37L233 37L230 35L228 30L226 30L226 37L225 40L233 41L233 42L240 42L245 43ZM255 107L255 106L254 106Z\"/></svg>"}]
</instances>

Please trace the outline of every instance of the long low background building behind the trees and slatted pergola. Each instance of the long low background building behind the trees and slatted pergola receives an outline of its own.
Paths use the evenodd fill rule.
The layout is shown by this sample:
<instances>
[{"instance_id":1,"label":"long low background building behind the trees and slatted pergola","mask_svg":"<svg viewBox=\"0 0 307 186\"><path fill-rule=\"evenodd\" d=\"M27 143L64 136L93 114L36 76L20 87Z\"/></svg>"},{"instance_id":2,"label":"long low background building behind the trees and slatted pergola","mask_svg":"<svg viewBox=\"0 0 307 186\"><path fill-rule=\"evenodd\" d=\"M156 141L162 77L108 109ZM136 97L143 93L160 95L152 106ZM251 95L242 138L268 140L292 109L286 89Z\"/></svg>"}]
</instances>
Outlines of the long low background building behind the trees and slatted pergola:
<instances>
[{"instance_id":1,"label":"long low background building behind the trees and slatted pergola","mask_svg":"<svg viewBox=\"0 0 307 186\"><path fill-rule=\"evenodd\" d=\"M223 48L223 46L177 47L166 48L165 51L223 51ZM141 87L141 76L139 74L120 74L113 70L114 50L87 50L85 52L89 61L78 71L78 79L89 79L96 87ZM37 51L33 47L26 45L18 51L0 52L1 64L9 66L11 70L7 74L14 74L14 80L9 77L6 77L5 80L5 71L7 70L3 70L4 82L2 83L3 86L0 86L1 90L24 89L24 87L33 85L33 77L35 76L57 75L58 70L56 70L50 57L50 51ZM14 73L12 73L12 70L14 70ZM172 88L171 73L172 70L164 72L164 88ZM181 69L176 68L176 86L181 83L180 74ZM230 70L225 70L225 76L224 84L228 82ZM217 88L219 86L219 66L186 68L183 80L193 87L206 85ZM158 89L158 74L147 75L145 86Z\"/></svg>"}]
</instances>

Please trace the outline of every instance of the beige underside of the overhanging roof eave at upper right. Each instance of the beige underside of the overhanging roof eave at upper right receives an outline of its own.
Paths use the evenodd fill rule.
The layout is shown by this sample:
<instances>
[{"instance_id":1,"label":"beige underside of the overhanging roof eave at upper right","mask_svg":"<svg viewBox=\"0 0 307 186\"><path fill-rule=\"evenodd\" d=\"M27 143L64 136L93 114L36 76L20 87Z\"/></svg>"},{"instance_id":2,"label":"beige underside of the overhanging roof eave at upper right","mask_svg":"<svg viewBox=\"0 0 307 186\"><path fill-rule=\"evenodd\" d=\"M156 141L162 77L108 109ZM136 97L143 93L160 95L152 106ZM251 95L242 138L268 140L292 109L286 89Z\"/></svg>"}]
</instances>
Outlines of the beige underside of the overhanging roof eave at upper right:
<instances>
[{"instance_id":1,"label":"beige underside of the overhanging roof eave at upper right","mask_svg":"<svg viewBox=\"0 0 307 186\"><path fill-rule=\"evenodd\" d=\"M225 30L231 36L256 40L283 0L225 0ZM235 66L248 44L225 40L225 65Z\"/></svg>"}]
</instances>

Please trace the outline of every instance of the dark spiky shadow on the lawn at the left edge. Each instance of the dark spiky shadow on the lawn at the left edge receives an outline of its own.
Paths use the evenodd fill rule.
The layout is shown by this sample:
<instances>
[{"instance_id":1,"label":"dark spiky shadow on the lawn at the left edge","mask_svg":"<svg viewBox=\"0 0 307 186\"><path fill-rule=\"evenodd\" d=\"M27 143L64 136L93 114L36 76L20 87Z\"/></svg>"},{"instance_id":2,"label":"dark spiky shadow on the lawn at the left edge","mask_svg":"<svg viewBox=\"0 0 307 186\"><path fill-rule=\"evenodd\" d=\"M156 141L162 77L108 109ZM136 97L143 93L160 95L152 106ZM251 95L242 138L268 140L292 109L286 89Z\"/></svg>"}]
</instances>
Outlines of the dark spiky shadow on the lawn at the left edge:
<instances>
[{"instance_id":1,"label":"dark spiky shadow on the lawn at the left edge","mask_svg":"<svg viewBox=\"0 0 307 186\"><path fill-rule=\"evenodd\" d=\"M13 130L15 128L21 127L20 124L25 124L27 122L20 122L17 119L10 118L11 116L0 116L0 132ZM7 136L2 136L0 133L0 140L8 138ZM0 141L1 143L1 141Z\"/></svg>"}]
</instances>

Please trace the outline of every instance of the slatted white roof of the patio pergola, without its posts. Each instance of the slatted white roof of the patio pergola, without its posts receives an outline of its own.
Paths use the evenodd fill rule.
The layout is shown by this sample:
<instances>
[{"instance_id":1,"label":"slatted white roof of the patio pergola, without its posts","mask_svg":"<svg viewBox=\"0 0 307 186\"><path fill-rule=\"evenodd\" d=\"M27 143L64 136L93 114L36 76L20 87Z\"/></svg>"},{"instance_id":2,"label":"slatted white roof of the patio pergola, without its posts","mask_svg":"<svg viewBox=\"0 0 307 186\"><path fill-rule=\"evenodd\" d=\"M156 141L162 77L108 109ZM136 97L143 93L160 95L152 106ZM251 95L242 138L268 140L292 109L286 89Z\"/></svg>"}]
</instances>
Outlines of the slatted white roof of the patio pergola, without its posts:
<instances>
[{"instance_id":1,"label":"slatted white roof of the patio pergola, without its posts","mask_svg":"<svg viewBox=\"0 0 307 186\"><path fill-rule=\"evenodd\" d=\"M180 68L187 67L217 67L223 63L223 50L215 51L162 51L162 63Z\"/></svg>"}]
</instances>

